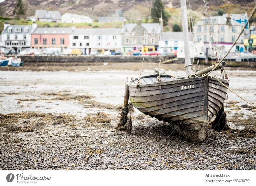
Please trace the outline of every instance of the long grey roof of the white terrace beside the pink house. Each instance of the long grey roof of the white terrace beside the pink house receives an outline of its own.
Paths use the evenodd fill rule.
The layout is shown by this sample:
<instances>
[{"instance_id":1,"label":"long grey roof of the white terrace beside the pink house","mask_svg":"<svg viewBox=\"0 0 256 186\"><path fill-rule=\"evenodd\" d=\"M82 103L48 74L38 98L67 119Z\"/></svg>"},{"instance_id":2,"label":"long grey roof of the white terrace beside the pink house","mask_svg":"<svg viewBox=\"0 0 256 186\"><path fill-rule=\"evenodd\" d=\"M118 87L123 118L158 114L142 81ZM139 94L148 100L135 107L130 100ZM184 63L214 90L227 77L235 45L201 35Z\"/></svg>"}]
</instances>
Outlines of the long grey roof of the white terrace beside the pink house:
<instances>
[{"instance_id":1,"label":"long grey roof of the white terrace beside the pink house","mask_svg":"<svg viewBox=\"0 0 256 186\"><path fill-rule=\"evenodd\" d=\"M121 28L84 28L75 29L72 35L118 35L121 33Z\"/></svg>"}]
</instances>

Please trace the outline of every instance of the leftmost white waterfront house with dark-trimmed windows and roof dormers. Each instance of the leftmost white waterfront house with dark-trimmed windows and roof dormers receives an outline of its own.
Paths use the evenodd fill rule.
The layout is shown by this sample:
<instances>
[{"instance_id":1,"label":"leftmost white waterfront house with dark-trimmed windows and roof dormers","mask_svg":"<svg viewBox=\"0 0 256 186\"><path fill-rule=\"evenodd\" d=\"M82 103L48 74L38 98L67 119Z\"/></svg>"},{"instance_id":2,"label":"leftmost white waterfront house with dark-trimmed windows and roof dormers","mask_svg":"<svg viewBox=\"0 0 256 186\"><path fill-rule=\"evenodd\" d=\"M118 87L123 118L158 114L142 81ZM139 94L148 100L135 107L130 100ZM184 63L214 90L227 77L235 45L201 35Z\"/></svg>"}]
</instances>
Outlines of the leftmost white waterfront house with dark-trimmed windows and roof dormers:
<instances>
[{"instance_id":1,"label":"leftmost white waterfront house with dark-trimmed windows and roof dormers","mask_svg":"<svg viewBox=\"0 0 256 186\"><path fill-rule=\"evenodd\" d=\"M36 27L36 23L32 25L10 25L9 23L4 23L1 38L4 50L20 52L30 48L31 33Z\"/></svg>"}]
</instances>

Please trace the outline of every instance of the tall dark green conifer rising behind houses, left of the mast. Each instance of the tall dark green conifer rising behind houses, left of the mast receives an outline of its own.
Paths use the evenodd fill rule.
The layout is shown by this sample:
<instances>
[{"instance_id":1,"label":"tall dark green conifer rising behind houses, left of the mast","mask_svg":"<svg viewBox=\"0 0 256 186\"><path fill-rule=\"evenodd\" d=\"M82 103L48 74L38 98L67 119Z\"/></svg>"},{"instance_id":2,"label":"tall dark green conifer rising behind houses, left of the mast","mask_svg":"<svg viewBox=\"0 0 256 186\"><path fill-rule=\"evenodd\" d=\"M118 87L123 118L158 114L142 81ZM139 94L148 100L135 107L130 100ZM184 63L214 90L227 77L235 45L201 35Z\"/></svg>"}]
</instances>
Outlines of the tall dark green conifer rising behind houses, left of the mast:
<instances>
[{"instance_id":1,"label":"tall dark green conifer rising behind houses, left of the mast","mask_svg":"<svg viewBox=\"0 0 256 186\"><path fill-rule=\"evenodd\" d=\"M166 10L162 7L161 0L155 0L151 7L151 17L153 19L153 23L158 23L159 18L161 18L161 11L162 11L162 19L163 19L163 25L166 26L168 23L169 15L167 14Z\"/></svg>"}]
</instances>

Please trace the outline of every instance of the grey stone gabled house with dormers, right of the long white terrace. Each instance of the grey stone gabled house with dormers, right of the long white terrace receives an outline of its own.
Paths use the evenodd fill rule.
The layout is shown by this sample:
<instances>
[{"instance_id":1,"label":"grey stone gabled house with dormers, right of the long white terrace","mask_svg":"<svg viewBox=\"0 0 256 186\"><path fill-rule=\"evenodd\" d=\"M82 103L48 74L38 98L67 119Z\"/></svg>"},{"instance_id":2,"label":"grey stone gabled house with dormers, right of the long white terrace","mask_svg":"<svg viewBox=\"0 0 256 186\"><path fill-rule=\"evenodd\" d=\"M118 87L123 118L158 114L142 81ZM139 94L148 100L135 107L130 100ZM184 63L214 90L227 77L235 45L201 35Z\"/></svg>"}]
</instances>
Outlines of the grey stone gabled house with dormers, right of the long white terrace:
<instances>
[{"instance_id":1,"label":"grey stone gabled house with dormers, right of the long white terrace","mask_svg":"<svg viewBox=\"0 0 256 186\"><path fill-rule=\"evenodd\" d=\"M163 29L162 29L163 30ZM122 52L123 54L133 50L152 51L158 50L158 41L161 33L159 23L126 23L122 26Z\"/></svg>"}]
</instances>

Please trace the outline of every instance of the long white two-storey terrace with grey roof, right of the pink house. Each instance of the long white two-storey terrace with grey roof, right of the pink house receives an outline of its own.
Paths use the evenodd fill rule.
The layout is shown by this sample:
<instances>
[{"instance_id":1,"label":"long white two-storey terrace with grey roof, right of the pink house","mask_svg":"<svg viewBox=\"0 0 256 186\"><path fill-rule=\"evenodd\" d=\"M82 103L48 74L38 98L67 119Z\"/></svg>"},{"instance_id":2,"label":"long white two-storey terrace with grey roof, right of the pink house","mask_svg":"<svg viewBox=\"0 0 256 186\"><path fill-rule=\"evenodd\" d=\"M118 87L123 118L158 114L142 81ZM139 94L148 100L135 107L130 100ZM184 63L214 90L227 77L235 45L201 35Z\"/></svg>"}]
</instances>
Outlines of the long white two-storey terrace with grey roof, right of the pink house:
<instances>
[{"instance_id":1,"label":"long white two-storey terrace with grey roof, right of the pink house","mask_svg":"<svg viewBox=\"0 0 256 186\"><path fill-rule=\"evenodd\" d=\"M99 53L109 50L121 50L121 29L119 28L90 28L75 29L69 36L70 48L77 48L83 54L90 54L92 50Z\"/></svg>"}]
</instances>

